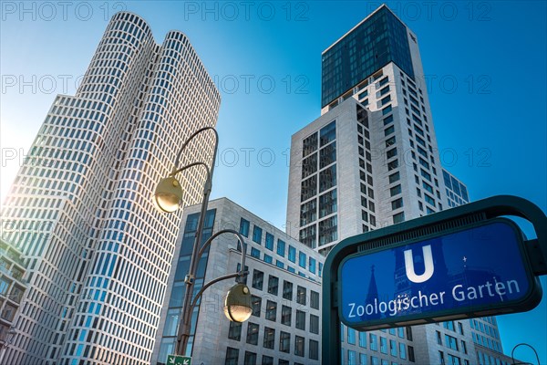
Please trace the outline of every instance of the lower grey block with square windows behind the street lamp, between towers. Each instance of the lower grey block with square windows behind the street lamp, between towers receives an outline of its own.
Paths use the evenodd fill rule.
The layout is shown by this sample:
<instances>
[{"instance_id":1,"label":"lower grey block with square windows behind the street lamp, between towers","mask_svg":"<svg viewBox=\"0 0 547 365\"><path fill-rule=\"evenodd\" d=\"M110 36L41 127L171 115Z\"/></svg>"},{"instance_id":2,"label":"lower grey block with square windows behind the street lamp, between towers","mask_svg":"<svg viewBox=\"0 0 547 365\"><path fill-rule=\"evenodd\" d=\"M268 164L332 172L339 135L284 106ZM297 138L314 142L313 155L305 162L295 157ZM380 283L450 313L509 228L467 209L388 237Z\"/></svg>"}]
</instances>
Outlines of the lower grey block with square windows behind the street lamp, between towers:
<instances>
[{"instance_id":1,"label":"lower grey block with square windows behind the street lamp, between towers","mask_svg":"<svg viewBox=\"0 0 547 365\"><path fill-rule=\"evenodd\" d=\"M199 213L197 205L184 210L152 356L154 365L165 364L176 346L183 279L190 265ZM203 242L222 229L243 235L253 315L244 323L230 322L224 316L222 299L234 281L209 287L192 317L192 350L188 352L192 363L319 364L324 257L226 198L211 201L206 217ZM239 250L233 235L215 238L198 266L194 291L213 278L239 270Z\"/></svg>"}]
</instances>

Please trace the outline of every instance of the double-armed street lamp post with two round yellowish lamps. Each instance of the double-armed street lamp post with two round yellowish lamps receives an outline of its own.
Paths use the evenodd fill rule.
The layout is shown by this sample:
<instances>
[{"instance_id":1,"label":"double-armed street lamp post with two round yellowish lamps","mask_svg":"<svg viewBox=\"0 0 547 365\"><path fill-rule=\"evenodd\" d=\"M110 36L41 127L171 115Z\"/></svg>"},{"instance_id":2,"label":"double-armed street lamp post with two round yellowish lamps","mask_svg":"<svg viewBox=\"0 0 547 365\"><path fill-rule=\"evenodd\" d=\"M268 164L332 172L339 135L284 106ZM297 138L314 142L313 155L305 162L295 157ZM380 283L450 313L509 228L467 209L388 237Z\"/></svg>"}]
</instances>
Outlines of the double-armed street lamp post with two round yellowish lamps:
<instances>
[{"instance_id":1,"label":"double-armed street lamp post with two round yellowish lamps","mask_svg":"<svg viewBox=\"0 0 547 365\"><path fill-rule=\"evenodd\" d=\"M215 141L214 141L214 151L212 155L212 165L211 167L207 166L205 162L192 162L187 165L180 167L181 155L184 149L188 146L190 141L196 137L199 133L212 130L214 132ZM203 186L203 200L201 201L201 212L198 219L198 226L196 231L196 236L194 239L194 245L191 250L191 260L190 260L190 270L188 274L184 277L185 294L184 301L182 304L182 314L181 322L179 323L179 328L177 330L177 355L184 355L186 347L188 346L188 340L190 339L191 331L191 314L195 308L198 300L200 299L203 292L211 287L213 284L218 283L219 281L230 279L235 277L237 284L235 284L229 291L224 301L224 314L227 318L236 322L243 322L251 317L253 308L251 305L251 292L249 287L247 287L243 282L245 276L248 272L245 271L245 243L243 241L242 235L239 232L236 232L231 229L223 229L214 235L212 235L199 249L201 245L201 236L203 231L203 224L205 222L205 214L207 212L207 205L209 203L209 196L212 190L212 172L214 170L214 164L216 159L216 154L218 150L219 137L217 131L212 127L204 127L200 130L196 130L191 136L186 140L181 147L181 150L177 154L177 159L173 167L172 172L168 177L163 178L158 183L156 191L154 193L154 203L160 209L160 211L165 213L176 212L182 204L182 188L181 183L176 178L176 174L183 172L193 166L203 166L207 172L207 180ZM200 291L196 294L193 300L191 300L193 287L195 282L195 275L197 271L197 266L200 261L201 255L205 252L207 247L211 245L212 240L222 234L232 234L235 235L242 247L242 258L241 258L241 268L237 273L228 274L225 276L219 276L212 279L210 282L205 283L201 287ZM199 249L199 250L198 250Z\"/></svg>"}]
</instances>

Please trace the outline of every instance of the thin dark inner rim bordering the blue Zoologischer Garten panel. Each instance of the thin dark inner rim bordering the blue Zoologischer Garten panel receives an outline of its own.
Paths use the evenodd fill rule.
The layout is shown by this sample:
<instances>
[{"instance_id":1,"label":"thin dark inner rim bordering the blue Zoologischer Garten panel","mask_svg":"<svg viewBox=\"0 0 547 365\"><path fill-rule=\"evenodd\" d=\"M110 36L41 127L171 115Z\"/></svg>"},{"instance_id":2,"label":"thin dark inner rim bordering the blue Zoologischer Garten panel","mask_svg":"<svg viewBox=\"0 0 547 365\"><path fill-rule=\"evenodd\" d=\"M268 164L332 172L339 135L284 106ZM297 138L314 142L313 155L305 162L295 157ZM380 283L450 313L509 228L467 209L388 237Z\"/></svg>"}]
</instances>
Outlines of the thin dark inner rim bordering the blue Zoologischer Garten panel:
<instances>
[{"instance_id":1,"label":"thin dark inner rim bordering the blue Zoologischer Garten panel","mask_svg":"<svg viewBox=\"0 0 547 365\"><path fill-rule=\"evenodd\" d=\"M490 224L507 224L507 226L511 227L512 233L515 236L516 245L518 246L518 251L521 256L521 266L524 269L524 273L526 276L526 280L529 284L527 292L521 297L521 299L517 300L511 300L509 302L503 302L498 304L482 304L474 306L472 309L464 310L464 308L456 308L456 309L441 309L439 311L436 311L432 315L427 314L413 314L405 316L405 319L401 318L380 318L380 319L373 319L370 321L363 321L360 323L350 323L346 321L346 318L342 315L342 268L346 264L348 260L355 259L357 257L366 256L366 255L374 255L378 252L386 251L391 248L397 248L402 247L406 245L413 245L418 244L420 242L425 242L430 239L443 237L446 235L452 235L457 233L462 233L469 231L473 228L478 227L484 227L488 226ZM340 318L340 321L344 323L347 327L355 328L358 330L374 330L374 329L381 329L381 328L393 328L393 327L403 327L403 326L411 326L416 324L426 324L426 323L435 323L442 321L444 319L449 318L476 318L476 317L485 317L490 316L490 312L495 312L495 314L504 314L504 313L516 313L521 311L530 310L532 308L535 308L542 299L542 287L540 284L540 281L537 276L534 276L532 273L532 266L530 263L530 260L528 258L528 255L526 253L526 248L524 246L524 240L521 235L521 229L517 224L512 222L510 219L507 218L493 218L486 221L480 221L475 224L470 224L469 226L461 226L455 229L450 229L448 231L445 231L441 234L431 234L431 235L423 235L420 237L416 237L407 241L401 241L397 242L392 245L384 245L380 247L375 247L370 250L358 252L356 254L347 255L342 261L340 262L340 265L338 266L338 288L337 290L337 301L340 304L338 306L338 317ZM424 318L425 316L428 316L428 318ZM434 318L434 320L433 320ZM365 323L368 322L367 325ZM421 322L421 323L417 323Z\"/></svg>"}]
</instances>

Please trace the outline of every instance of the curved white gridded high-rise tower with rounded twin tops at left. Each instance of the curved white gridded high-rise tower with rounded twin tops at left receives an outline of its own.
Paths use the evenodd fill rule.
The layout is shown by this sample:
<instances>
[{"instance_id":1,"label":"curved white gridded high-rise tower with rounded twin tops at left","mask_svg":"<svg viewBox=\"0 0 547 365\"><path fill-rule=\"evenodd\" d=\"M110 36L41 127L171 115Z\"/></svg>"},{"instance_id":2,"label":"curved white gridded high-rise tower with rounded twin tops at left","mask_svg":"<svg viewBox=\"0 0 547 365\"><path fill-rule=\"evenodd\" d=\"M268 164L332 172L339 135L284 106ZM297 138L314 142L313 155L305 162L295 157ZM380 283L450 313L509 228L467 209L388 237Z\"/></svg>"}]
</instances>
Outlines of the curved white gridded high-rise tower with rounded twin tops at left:
<instances>
[{"instance_id":1,"label":"curved white gridded high-rise tower with rounded twin tops at left","mask_svg":"<svg viewBox=\"0 0 547 365\"><path fill-rule=\"evenodd\" d=\"M186 36L161 45L134 14L110 20L75 96L59 95L2 207L21 250L25 305L10 364L149 364L181 214L150 197L220 95ZM213 136L191 161L211 162ZM202 169L185 173L199 201Z\"/></svg>"}]
</instances>

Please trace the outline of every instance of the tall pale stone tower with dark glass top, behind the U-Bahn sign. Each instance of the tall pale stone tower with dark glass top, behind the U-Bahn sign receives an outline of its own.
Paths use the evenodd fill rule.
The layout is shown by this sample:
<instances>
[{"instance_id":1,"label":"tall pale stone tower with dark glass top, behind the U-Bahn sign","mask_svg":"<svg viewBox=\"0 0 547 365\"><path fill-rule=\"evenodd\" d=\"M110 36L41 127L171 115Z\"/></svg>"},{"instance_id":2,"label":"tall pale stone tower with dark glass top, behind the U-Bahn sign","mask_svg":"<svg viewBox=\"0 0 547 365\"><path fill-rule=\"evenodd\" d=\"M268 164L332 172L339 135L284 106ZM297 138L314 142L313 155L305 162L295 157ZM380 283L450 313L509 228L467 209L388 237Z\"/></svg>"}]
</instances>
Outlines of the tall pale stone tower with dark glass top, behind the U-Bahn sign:
<instances>
[{"instance_id":1,"label":"tall pale stone tower with dark glass top, behind the U-Bahn sign","mask_svg":"<svg viewBox=\"0 0 547 365\"><path fill-rule=\"evenodd\" d=\"M440 163L418 37L386 5L323 52L321 107L291 141L286 230L303 245L327 255L346 237L470 201ZM341 362L476 363L470 323L342 326Z\"/></svg>"}]
</instances>

